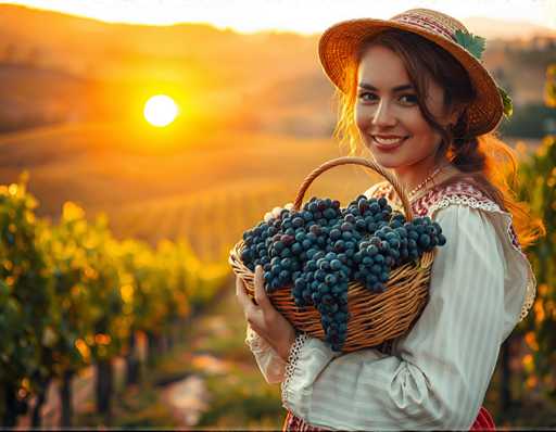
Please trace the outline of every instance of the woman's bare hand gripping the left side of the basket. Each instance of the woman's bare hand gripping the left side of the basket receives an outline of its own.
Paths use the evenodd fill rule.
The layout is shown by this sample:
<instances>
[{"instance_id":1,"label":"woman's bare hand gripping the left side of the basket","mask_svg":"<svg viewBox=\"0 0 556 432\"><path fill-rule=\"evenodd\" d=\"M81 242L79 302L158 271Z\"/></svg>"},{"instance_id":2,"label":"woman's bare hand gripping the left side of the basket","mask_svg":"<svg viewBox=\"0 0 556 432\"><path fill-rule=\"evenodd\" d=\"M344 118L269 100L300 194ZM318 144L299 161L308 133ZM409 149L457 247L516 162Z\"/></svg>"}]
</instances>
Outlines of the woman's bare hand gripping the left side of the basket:
<instances>
[{"instance_id":1,"label":"woman's bare hand gripping the left side of the basket","mask_svg":"<svg viewBox=\"0 0 556 432\"><path fill-rule=\"evenodd\" d=\"M265 339L270 346L285 360L288 360L291 345L295 342L295 329L293 326L273 306L266 295L264 287L263 267L255 268L255 302L249 297L243 287L243 281L236 277L236 295L243 308L245 319L251 328Z\"/></svg>"}]
</instances>

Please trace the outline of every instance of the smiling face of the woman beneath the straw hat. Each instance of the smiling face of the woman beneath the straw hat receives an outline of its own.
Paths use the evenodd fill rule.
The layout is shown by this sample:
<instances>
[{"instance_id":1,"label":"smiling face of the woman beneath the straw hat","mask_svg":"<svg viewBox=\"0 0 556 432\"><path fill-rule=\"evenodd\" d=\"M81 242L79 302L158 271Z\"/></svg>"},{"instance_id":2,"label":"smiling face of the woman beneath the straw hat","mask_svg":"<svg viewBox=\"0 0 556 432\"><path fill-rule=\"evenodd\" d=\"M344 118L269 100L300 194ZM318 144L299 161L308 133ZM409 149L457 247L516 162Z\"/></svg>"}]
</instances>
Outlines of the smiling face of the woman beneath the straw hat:
<instances>
[{"instance_id":1,"label":"smiling face of the woman beneath the straw hat","mask_svg":"<svg viewBox=\"0 0 556 432\"><path fill-rule=\"evenodd\" d=\"M443 91L429 80L427 107L445 125ZM381 46L362 56L357 74L355 122L378 164L403 173L433 167L441 136L422 116L416 89L397 54Z\"/></svg>"}]
</instances>

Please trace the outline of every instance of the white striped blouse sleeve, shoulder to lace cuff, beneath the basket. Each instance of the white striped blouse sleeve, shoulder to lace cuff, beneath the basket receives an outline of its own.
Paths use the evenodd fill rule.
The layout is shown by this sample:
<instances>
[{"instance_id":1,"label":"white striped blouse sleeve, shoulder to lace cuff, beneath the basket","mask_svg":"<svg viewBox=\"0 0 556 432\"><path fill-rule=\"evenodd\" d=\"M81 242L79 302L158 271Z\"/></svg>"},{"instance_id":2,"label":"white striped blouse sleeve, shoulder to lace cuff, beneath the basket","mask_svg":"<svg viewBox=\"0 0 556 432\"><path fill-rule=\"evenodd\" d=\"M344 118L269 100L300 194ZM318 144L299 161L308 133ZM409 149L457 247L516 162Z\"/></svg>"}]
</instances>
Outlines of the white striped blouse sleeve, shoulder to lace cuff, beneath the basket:
<instances>
[{"instance_id":1,"label":"white striped blouse sleeve, shoulder to lace cuff, beneath the basket","mask_svg":"<svg viewBox=\"0 0 556 432\"><path fill-rule=\"evenodd\" d=\"M437 212L447 242L433 262L430 296L389 356L372 348L334 357L299 336L282 404L307 423L342 430L469 430L504 338L504 251L486 212Z\"/></svg>"}]
</instances>

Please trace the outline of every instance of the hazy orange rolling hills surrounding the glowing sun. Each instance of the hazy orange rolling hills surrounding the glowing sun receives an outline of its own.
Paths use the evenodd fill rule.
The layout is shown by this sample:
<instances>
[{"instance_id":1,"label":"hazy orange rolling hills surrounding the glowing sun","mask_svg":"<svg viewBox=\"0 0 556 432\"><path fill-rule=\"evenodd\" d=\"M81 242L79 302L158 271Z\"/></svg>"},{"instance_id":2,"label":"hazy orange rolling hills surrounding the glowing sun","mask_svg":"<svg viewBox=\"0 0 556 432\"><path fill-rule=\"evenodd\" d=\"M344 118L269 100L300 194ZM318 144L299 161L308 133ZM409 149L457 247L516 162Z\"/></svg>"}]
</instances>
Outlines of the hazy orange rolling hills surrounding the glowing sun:
<instances>
[{"instance_id":1,"label":"hazy orange rolling hills surrounding the glowing sun","mask_svg":"<svg viewBox=\"0 0 556 432\"><path fill-rule=\"evenodd\" d=\"M341 155L317 36L106 24L7 4L0 35L0 125L29 127L0 135L0 182L27 169L41 216L55 219L71 200L106 212L118 236L187 233L202 246L219 232L228 244ZM486 66L506 72L516 101L540 100L548 58L528 63L507 47L488 46ZM156 92L184 107L167 130L141 118ZM345 203L375 180L342 167L309 193Z\"/></svg>"}]
</instances>

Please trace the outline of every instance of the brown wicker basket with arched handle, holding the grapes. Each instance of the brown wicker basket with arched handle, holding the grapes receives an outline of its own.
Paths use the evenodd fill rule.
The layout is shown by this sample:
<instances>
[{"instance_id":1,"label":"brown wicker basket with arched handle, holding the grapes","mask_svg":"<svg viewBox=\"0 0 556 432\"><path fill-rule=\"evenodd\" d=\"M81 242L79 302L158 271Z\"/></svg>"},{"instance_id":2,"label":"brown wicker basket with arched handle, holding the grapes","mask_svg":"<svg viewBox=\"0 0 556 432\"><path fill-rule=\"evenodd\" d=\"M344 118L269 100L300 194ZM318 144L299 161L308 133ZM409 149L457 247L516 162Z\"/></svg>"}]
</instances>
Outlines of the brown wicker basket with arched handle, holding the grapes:
<instances>
[{"instance_id":1,"label":"brown wicker basket with arched handle, holding the grapes","mask_svg":"<svg viewBox=\"0 0 556 432\"><path fill-rule=\"evenodd\" d=\"M413 219L412 207L402 185L382 167L363 157L339 157L313 170L301 186L293 203L299 211L305 191L321 173L339 165L366 166L384 177L401 199L406 219ZM230 251L229 264L245 285L247 293L254 298L254 274L241 262L243 240ZM348 285L348 307L351 318L342 352L381 345L406 333L419 317L428 300L430 270L434 251L425 253L418 262L407 263L391 270L386 291L372 293L359 282ZM291 295L291 287L283 287L268 294L273 305L299 330L325 340L320 314L314 306L298 307Z\"/></svg>"}]
</instances>

